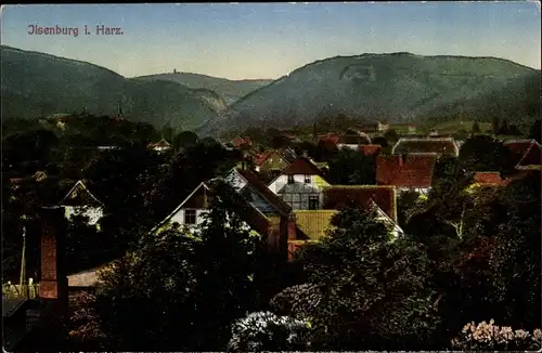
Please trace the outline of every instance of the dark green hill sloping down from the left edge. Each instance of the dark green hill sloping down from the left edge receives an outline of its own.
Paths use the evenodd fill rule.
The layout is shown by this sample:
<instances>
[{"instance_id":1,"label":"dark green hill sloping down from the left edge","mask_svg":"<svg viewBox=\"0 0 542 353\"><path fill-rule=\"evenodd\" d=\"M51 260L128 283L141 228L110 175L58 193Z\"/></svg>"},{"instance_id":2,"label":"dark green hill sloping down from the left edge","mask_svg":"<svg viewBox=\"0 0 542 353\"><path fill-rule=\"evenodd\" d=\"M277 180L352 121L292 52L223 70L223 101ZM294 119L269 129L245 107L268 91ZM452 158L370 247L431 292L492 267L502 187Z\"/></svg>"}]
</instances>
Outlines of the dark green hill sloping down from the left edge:
<instances>
[{"instance_id":1,"label":"dark green hill sloping down from the left edge","mask_svg":"<svg viewBox=\"0 0 542 353\"><path fill-rule=\"evenodd\" d=\"M191 90L171 81L127 79L86 62L5 45L1 57L2 118L81 110L111 115L121 102L125 116L132 121L192 129L225 107L220 96L208 90Z\"/></svg>"}]
</instances>

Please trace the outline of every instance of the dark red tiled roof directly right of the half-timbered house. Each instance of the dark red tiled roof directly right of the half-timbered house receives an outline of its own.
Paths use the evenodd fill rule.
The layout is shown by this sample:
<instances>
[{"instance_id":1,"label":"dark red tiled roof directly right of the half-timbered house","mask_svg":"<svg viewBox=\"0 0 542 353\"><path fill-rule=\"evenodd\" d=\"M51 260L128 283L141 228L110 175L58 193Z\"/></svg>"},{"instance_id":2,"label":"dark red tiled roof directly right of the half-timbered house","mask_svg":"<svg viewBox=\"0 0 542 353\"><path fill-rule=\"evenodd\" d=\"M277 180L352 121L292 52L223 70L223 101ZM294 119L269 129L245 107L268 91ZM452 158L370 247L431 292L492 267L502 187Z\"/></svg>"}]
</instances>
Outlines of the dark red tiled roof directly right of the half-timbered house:
<instances>
[{"instance_id":1,"label":"dark red tiled roof directly right of the half-timbered house","mask_svg":"<svg viewBox=\"0 0 542 353\"><path fill-rule=\"evenodd\" d=\"M383 185L359 185L359 186L326 186L324 193L324 209L338 209L353 202L363 208L371 207L374 201L378 207L397 221L396 188Z\"/></svg>"}]
</instances>

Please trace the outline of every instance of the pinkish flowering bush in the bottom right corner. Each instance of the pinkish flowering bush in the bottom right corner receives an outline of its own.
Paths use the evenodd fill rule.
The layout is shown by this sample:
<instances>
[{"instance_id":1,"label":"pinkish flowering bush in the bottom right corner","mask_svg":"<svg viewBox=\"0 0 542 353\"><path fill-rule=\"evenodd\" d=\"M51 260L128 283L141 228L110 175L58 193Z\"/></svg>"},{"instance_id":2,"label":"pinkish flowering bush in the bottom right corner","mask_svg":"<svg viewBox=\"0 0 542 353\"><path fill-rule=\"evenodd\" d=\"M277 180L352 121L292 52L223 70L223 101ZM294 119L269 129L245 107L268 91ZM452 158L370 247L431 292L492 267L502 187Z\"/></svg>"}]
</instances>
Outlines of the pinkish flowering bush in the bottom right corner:
<instances>
[{"instance_id":1,"label":"pinkish flowering bush in the bottom right corner","mask_svg":"<svg viewBox=\"0 0 542 353\"><path fill-rule=\"evenodd\" d=\"M542 331L539 328L531 334L493 324L493 319L489 324L468 323L452 340L452 348L461 351L539 351L542 348Z\"/></svg>"}]
</instances>

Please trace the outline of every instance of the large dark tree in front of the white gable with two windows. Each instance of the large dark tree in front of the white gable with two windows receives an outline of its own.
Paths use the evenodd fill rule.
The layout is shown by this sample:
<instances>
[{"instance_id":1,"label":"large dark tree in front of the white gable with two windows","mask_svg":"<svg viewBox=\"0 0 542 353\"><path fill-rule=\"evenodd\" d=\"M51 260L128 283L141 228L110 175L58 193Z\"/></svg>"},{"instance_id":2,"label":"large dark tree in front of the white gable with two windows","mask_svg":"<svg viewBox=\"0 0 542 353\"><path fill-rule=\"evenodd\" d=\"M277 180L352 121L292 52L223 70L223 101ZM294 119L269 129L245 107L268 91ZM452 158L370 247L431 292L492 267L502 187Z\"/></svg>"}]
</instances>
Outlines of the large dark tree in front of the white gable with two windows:
<instances>
[{"instance_id":1,"label":"large dark tree in front of the white gable with two windows","mask_svg":"<svg viewBox=\"0 0 542 353\"><path fill-rule=\"evenodd\" d=\"M214 189L220 198L197 232L143 236L104 275L98 314L111 349L220 351L230 324L257 309L261 238L242 226L237 194Z\"/></svg>"}]
</instances>

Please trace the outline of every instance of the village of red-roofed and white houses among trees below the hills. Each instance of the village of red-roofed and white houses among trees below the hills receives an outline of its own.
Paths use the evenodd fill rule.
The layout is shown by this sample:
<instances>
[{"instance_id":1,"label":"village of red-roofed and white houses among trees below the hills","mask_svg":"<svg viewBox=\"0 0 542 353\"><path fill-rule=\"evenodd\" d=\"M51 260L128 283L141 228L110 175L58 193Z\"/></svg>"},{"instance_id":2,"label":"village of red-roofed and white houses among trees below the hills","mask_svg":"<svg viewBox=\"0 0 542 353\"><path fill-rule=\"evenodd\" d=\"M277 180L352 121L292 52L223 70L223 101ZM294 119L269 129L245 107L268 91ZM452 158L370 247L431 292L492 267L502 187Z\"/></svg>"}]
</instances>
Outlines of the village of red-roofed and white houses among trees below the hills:
<instances>
[{"instance_id":1,"label":"village of red-roofed and white houses among trees below the hills","mask_svg":"<svg viewBox=\"0 0 542 353\"><path fill-rule=\"evenodd\" d=\"M112 116L107 123L118 125L125 121L119 109L119 113ZM43 126L43 121L40 123ZM60 131L65 131L66 128L69 130L72 122L66 116L61 116L61 118L49 119L47 123ZM203 172L207 175L203 179L193 175L192 182L183 185L185 192L181 193L182 195L172 189L165 189L165 195L170 199L162 205L167 204L171 207L165 207L162 213L157 212L154 218L156 221L149 221L146 226L140 226L144 228L143 233L160 238L172 230L181 234L197 236L205 232L206 218L214 201L227 199L231 193L235 193L240 196L238 202L228 211L240 217L241 230L246 230L264 241L266 252L273 256L273 261L287 266L287 263L296 262L296 253L300 249L308 245L319 244L333 234L336 231L333 220L345 209L358 209L374 214L375 220L385 224L389 230L390 241L408 238L409 233L412 232L409 222L416 214L405 212L404 199L412 198L412 208L413 205L420 206L435 198L435 195L439 193L435 187L440 187L436 185L443 179L444 173L440 165L450 165L450 162L453 165L460 159L468 161L468 164L457 165L460 167L454 167L453 171L448 174L448 178L457 182L463 178L459 176L459 173L463 173L466 178L463 189L468 193L477 193L477 189L482 193L487 193L488 189L505 189L508 185L515 185L514 183L532 178L532 175L534 179L540 179L542 170L542 147L539 141L527 136L499 141L490 134L481 133L479 127L474 127L465 140L456 140L451 134L440 134L438 131L422 134L416 131L420 128L415 126L390 126L382 121L372 126L344 129L344 131L322 132L319 131L322 129L319 129L317 123L311 128L312 133L309 134L295 135L291 131L279 132L273 136L271 146L258 143L255 141L257 139L247 134L236 134L230 141L207 139L205 144L214 143L212 148L223 151L224 156L225 154L235 156L231 159L233 167L221 173ZM535 129L534 127L531 131ZM540 131L540 125L538 129ZM401 131L401 134L397 131ZM146 146L142 142L139 147L108 144L96 145L94 149L98 151L96 156L115 153L121 155L124 149L146 149L154 155L149 158L160 160L155 169L159 179L160 174L166 173L165 170L173 168L168 166L176 162L183 164L182 158L185 158L183 156L190 154L191 148L197 148L203 144L201 140L195 140L180 147L175 146L172 140L168 141L162 133L160 139L149 142ZM493 145L490 146L488 143ZM502 148L501 153L495 154L490 151L499 146ZM487 157L492 153L493 155ZM134 158L133 161L126 162L134 162L139 157ZM195 166L201 160L198 158L202 157L195 159ZM470 164L473 159L476 162ZM488 161L490 159L493 160ZM172 162L172 160L180 161ZM457 168L466 168L465 166L473 168L468 172L459 171ZM488 170L485 169L486 166ZM186 183L185 174L173 173L173 175L178 175L171 176L173 183ZM142 175L129 175L129 178L139 180ZM107 189L122 189L126 186L111 184L112 181L114 182L115 179L102 179L103 183L107 183ZM17 328L17 325L25 322L25 319L21 321L22 315L23 318L26 315L26 321L29 319L29 313L34 313L31 315L35 316L40 315L42 304L38 299L62 302L59 304L61 309L57 310L66 315L70 312L68 306L73 305L74 298L80 296L81 292L95 293L96 288L100 287L102 273L112 269L111 266L121 256L119 252L114 256L108 254L108 259L103 258L94 261L93 265L79 266L76 272L70 271L69 265L66 265L66 260L62 260L65 259L66 252L66 248L63 248L66 243L62 240L62 233L65 231L53 224L85 220L85 226L93 228L93 234L104 233L102 220L111 218L112 210L114 210L107 202L118 200L111 197L103 199L107 194L103 193L103 185L101 186L96 181L89 181L85 178L72 181L62 180L47 170L35 170L29 175L11 178L10 188L7 192L14 200L21 197L16 195L22 195L17 192L25 187L34 187L28 185L40 183L44 185L46 182L50 183L48 185L56 185L52 186L55 188L53 195L56 196L52 198L48 196L48 201L44 198L41 198L41 201L38 200L39 211L37 212L41 214L39 218L41 225L31 230L40 234L37 243L40 250L31 253L31 247L23 245L22 260L18 260L22 261L18 284L10 282L3 285L3 306L11 308L3 311L4 323L7 323L4 325L13 325L14 332L24 331L23 328ZM193 186L190 187L190 184ZM49 187L47 188L50 191ZM96 193L94 189L102 192ZM120 193L125 194L122 197L127 197L131 192ZM180 198L171 198L172 195L179 195ZM54 197L59 197L56 202ZM466 201L462 202L466 205ZM122 207L117 207L117 209L128 209L126 206ZM457 238L462 238L464 232L462 228L466 219L465 207L463 206L463 213L454 223L459 224L459 226L454 225ZM143 217L145 210L145 206L142 206L139 215L134 218ZM114 217L121 220L125 218L122 212L117 211L118 214ZM23 232L26 232L25 227ZM118 232L118 228L115 232ZM105 243L102 245L105 246ZM93 245L94 248L100 248L100 241ZM37 262L40 270L35 273L40 273L40 276L33 278L25 261L28 257L36 257L37 253L40 253ZM279 273L274 275L280 276ZM55 326L52 325L52 327ZM10 343L13 349L30 344L31 339L28 337L44 340L44 334L41 334L42 336L17 335ZM50 337L50 334L44 336Z\"/></svg>"}]
</instances>

